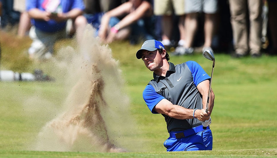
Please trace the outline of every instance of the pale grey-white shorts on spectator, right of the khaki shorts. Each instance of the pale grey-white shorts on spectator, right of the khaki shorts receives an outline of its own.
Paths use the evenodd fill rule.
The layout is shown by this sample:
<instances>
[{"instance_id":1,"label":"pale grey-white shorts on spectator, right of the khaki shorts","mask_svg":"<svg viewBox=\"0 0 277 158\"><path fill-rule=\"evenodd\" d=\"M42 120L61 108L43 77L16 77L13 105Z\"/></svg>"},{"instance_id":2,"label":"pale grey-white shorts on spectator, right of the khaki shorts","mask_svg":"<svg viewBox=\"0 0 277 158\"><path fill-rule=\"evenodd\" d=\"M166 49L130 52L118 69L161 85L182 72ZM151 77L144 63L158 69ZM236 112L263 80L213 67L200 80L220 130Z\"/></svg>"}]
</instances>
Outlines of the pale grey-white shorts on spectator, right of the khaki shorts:
<instances>
[{"instance_id":1,"label":"pale grey-white shorts on spectator, right of the khaki shorts","mask_svg":"<svg viewBox=\"0 0 277 158\"><path fill-rule=\"evenodd\" d=\"M185 13L207 13L217 12L217 0L185 0Z\"/></svg>"}]
</instances>

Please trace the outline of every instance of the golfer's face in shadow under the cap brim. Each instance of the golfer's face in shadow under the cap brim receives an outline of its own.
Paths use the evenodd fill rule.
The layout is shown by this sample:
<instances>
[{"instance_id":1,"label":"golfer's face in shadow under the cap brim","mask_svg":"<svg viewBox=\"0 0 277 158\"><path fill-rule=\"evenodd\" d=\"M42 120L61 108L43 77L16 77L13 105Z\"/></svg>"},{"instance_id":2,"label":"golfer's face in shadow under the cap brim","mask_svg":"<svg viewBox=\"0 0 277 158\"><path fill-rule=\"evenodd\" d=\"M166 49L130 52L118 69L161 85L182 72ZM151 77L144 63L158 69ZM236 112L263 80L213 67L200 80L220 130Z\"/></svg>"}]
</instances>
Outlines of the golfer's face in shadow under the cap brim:
<instances>
[{"instance_id":1,"label":"golfer's face in shadow under the cap brim","mask_svg":"<svg viewBox=\"0 0 277 158\"><path fill-rule=\"evenodd\" d=\"M155 71L163 65L163 59L161 54L159 54L158 50L144 50L141 55L141 58L144 61L145 66L151 71Z\"/></svg>"}]
</instances>

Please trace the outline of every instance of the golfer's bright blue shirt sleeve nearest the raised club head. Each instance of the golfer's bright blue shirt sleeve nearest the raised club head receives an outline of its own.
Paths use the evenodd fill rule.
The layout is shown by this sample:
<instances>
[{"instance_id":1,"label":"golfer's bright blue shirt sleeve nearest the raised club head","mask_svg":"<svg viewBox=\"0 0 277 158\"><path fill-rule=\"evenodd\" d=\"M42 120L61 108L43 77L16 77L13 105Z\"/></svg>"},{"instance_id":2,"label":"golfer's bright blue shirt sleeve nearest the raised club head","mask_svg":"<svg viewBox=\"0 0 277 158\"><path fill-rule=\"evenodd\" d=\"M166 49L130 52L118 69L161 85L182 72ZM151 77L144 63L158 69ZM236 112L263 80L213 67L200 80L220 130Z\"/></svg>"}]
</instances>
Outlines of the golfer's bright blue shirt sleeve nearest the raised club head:
<instances>
[{"instance_id":1,"label":"golfer's bright blue shirt sleeve nearest the raised club head","mask_svg":"<svg viewBox=\"0 0 277 158\"><path fill-rule=\"evenodd\" d=\"M186 64L192 73L193 82L196 87L200 82L211 78L197 62L187 61Z\"/></svg>"}]
</instances>

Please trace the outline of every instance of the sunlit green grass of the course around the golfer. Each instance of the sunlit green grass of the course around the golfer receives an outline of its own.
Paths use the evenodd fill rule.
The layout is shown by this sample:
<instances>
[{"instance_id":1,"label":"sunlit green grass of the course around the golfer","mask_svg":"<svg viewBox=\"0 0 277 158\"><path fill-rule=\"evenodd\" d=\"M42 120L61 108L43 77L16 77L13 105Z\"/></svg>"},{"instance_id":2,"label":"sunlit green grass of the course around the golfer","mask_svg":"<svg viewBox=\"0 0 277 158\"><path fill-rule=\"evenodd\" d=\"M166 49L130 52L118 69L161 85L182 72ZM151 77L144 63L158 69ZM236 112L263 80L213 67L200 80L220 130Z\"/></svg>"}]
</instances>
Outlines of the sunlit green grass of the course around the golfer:
<instances>
[{"instance_id":1,"label":"sunlit green grass of the course around the golfer","mask_svg":"<svg viewBox=\"0 0 277 158\"><path fill-rule=\"evenodd\" d=\"M52 76L57 74L49 63L28 59L29 38L17 39L1 33L0 40L0 70L32 72L42 68ZM55 48L58 51L61 46L72 44L71 40L62 40ZM57 77L56 82L0 82L0 157L277 157L277 56L233 59L229 54L216 52L212 84L213 151L167 153L163 147L168 137L164 118L151 114L142 98L142 91L153 75L135 57L140 46L126 41L109 45L113 58L119 61L124 90L130 98L130 115L137 125L137 129L121 131L126 141L121 146L130 152L29 149L41 128L60 113L68 96L71 86ZM187 60L197 61L211 73L212 62L199 53L170 59L174 64ZM132 130L136 130L135 134Z\"/></svg>"}]
</instances>

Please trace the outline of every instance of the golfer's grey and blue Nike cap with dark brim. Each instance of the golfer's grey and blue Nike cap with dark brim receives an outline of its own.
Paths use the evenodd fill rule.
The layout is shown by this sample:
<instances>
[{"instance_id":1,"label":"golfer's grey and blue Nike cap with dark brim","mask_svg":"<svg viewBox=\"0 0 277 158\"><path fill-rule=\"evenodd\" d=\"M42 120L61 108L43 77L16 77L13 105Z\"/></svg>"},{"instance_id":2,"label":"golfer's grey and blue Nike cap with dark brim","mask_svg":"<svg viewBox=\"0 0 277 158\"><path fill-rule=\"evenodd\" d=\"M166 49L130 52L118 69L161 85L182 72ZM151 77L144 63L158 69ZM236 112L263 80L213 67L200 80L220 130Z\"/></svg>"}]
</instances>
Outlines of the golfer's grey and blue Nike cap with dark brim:
<instances>
[{"instance_id":1,"label":"golfer's grey and blue Nike cap with dark brim","mask_svg":"<svg viewBox=\"0 0 277 158\"><path fill-rule=\"evenodd\" d=\"M143 50L154 51L160 48L165 49L165 46L163 46L160 41L147 40L142 44L141 49L136 52L136 58L141 59L141 53Z\"/></svg>"}]
</instances>

